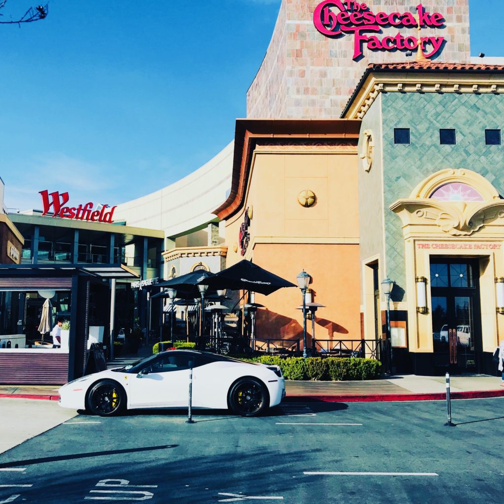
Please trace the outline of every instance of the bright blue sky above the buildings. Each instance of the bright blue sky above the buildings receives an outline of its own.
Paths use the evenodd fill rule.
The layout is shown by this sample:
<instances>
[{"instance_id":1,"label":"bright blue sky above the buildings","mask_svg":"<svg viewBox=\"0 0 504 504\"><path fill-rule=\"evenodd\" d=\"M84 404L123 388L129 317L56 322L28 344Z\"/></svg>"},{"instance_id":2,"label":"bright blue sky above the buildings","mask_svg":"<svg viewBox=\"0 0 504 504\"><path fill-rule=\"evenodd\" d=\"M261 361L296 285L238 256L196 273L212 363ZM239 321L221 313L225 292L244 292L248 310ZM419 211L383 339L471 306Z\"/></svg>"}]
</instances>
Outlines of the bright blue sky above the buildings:
<instances>
[{"instance_id":1,"label":"bright blue sky above the buildings","mask_svg":"<svg viewBox=\"0 0 504 504\"><path fill-rule=\"evenodd\" d=\"M33 0L9 0L4 18ZM502 0L470 0L472 53L504 56ZM50 0L0 25L5 203L38 191L115 205L194 171L233 138L280 0Z\"/></svg>"}]
</instances>

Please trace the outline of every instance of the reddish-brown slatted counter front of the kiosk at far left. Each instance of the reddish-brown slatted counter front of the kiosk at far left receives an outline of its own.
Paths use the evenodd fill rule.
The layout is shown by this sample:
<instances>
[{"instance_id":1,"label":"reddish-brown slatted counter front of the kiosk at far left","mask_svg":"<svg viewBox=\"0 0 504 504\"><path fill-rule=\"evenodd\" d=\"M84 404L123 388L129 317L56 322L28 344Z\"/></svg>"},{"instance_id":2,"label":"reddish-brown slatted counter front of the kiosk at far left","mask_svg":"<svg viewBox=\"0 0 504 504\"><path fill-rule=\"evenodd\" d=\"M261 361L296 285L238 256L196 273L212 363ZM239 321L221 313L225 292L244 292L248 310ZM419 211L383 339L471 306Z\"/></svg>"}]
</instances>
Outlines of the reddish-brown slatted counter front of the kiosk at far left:
<instances>
[{"instance_id":1,"label":"reddish-brown slatted counter front of the kiosk at far left","mask_svg":"<svg viewBox=\"0 0 504 504\"><path fill-rule=\"evenodd\" d=\"M68 359L68 353L0 352L0 384L63 385L68 382Z\"/></svg>"}]
</instances>

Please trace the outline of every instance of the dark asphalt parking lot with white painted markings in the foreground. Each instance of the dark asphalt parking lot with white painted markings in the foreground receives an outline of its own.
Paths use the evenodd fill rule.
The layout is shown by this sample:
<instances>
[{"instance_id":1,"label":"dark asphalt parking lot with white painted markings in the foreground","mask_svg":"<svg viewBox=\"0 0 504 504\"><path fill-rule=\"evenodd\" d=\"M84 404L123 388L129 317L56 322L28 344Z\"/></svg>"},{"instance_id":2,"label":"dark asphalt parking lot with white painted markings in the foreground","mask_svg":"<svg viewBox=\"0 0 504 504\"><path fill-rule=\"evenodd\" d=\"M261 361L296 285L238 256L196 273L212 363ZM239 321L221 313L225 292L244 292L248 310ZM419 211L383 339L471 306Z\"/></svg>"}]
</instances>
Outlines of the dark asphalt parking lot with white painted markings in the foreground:
<instances>
[{"instance_id":1,"label":"dark asphalt parking lot with white painted markings in the foreground","mask_svg":"<svg viewBox=\"0 0 504 504\"><path fill-rule=\"evenodd\" d=\"M0 503L501 502L504 398L453 419L442 401L78 415L0 455Z\"/></svg>"}]
</instances>

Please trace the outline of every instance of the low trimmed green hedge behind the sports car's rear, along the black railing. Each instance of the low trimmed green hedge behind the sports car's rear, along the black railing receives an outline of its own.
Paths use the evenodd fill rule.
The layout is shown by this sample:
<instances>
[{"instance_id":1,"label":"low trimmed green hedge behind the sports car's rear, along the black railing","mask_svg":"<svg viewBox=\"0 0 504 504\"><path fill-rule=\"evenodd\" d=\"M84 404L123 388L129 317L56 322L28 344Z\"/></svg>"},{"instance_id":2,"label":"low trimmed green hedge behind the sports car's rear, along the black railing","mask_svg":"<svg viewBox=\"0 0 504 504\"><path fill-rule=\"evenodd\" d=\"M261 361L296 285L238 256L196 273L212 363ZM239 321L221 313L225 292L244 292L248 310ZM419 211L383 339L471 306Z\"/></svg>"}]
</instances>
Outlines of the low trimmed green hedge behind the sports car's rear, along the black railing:
<instances>
[{"instance_id":1,"label":"low trimmed green hedge behind the sports car's rear, along the black railing","mask_svg":"<svg viewBox=\"0 0 504 504\"><path fill-rule=\"evenodd\" d=\"M262 355L244 358L250 362L280 366L286 380L342 382L348 380L375 380L381 375L382 363L357 357L277 357Z\"/></svg>"}]
</instances>

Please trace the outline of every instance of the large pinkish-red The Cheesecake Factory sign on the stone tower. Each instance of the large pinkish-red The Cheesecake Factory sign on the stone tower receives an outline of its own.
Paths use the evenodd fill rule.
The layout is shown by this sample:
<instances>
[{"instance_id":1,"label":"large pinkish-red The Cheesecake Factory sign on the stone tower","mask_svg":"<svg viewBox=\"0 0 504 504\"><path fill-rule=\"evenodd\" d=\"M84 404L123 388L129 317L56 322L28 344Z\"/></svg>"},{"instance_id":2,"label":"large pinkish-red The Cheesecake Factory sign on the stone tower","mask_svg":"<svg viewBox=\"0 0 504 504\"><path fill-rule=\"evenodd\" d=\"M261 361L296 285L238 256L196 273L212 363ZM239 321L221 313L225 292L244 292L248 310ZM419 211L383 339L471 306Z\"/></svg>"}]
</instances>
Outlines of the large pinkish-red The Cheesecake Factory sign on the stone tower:
<instances>
[{"instance_id":1,"label":"large pinkish-red The Cheesecake Factory sign on the stone tower","mask_svg":"<svg viewBox=\"0 0 504 504\"><path fill-rule=\"evenodd\" d=\"M334 9L334 10L333 10ZM339 11L339 12L337 12ZM391 26L398 28L444 28L443 14L425 11L422 4L416 6L417 14L411 12L371 12L367 4L353 2L353 0L324 0L313 12L313 24L317 30L327 37L339 37L347 34L354 35L353 59L363 56L362 46L367 45L371 50L409 50L418 48L418 38L403 36L386 36L380 39L376 35L364 32L382 32L383 28ZM426 58L432 57L443 48L445 37L420 37L422 49ZM428 47L427 47L428 46Z\"/></svg>"}]
</instances>

